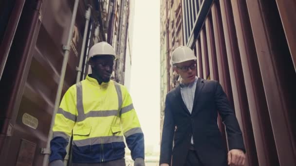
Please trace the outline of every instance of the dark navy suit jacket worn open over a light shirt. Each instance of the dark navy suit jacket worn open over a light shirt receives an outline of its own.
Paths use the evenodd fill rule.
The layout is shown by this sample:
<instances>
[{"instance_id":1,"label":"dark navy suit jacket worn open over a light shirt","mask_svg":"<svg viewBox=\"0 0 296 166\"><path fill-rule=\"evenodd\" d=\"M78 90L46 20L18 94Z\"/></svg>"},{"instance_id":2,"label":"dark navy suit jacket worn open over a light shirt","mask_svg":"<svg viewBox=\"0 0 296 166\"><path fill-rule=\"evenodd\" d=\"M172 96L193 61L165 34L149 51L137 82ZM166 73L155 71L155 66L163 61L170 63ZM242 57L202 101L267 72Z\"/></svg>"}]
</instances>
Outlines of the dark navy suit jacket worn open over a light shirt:
<instances>
[{"instance_id":1,"label":"dark navy suit jacket worn open over a light shirt","mask_svg":"<svg viewBox=\"0 0 296 166\"><path fill-rule=\"evenodd\" d=\"M204 166L227 166L218 112L226 127L229 150L245 151L238 120L220 83L198 79L192 114L182 99L180 85L171 90L166 95L160 164L184 166L193 135L194 148Z\"/></svg>"}]
</instances>

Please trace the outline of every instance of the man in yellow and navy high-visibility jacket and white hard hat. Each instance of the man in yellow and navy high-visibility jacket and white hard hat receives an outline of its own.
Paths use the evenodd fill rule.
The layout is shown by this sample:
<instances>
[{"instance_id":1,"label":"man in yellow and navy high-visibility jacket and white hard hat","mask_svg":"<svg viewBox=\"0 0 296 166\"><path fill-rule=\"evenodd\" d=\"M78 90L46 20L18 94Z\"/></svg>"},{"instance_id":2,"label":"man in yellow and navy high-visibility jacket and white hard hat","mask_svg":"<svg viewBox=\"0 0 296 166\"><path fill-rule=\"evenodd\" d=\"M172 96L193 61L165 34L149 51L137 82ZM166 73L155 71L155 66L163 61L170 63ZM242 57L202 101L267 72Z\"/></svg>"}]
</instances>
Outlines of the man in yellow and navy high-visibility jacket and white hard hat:
<instances>
[{"instance_id":1,"label":"man in yellow and navy high-visibility jacket and white hard hat","mask_svg":"<svg viewBox=\"0 0 296 166\"><path fill-rule=\"evenodd\" d=\"M125 143L134 166L144 164L144 135L127 88L110 80L112 46L100 42L89 52L92 74L71 86L55 117L51 166L63 166L73 134L73 166L125 166Z\"/></svg>"}]
</instances>

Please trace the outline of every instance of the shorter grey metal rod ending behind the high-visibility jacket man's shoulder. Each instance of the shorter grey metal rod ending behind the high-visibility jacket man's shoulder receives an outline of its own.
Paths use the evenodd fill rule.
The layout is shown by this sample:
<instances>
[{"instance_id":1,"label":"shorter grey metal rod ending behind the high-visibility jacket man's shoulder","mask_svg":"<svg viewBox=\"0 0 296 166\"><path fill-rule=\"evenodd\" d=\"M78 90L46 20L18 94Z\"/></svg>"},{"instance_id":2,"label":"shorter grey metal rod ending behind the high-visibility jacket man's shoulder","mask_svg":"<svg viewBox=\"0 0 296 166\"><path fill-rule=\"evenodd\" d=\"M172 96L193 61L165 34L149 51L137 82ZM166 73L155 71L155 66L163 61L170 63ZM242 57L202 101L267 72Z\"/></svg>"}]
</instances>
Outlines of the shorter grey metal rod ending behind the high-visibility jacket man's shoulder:
<instances>
[{"instance_id":1,"label":"shorter grey metal rod ending behind the high-visibility jacket man's shoulder","mask_svg":"<svg viewBox=\"0 0 296 166\"><path fill-rule=\"evenodd\" d=\"M88 7L86 13L85 13L85 27L84 27L84 34L83 34L83 40L82 40L82 46L81 46L81 52L80 52L80 59L79 59L79 66L76 68L77 70L77 77L76 77L76 83L80 81L81 72L82 72L82 63L83 63L83 55L85 50L85 44L86 44L86 37L89 29L89 23L91 18L91 6Z\"/></svg>"}]
</instances>

